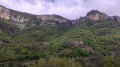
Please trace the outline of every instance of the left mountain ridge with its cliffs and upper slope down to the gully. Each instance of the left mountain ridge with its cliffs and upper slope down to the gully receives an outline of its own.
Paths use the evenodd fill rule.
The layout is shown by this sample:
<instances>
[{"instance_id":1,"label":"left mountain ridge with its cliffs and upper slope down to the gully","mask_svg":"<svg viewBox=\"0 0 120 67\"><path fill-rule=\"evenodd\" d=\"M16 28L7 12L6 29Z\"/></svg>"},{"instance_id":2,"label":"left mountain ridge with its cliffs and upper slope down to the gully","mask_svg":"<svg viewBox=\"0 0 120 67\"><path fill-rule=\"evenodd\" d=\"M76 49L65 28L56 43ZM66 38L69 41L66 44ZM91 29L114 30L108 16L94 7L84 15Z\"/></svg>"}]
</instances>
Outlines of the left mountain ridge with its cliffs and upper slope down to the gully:
<instances>
[{"instance_id":1,"label":"left mountain ridge with its cliffs and upper slope down to the gully","mask_svg":"<svg viewBox=\"0 0 120 67\"><path fill-rule=\"evenodd\" d=\"M52 25L67 30L72 26L69 19L59 15L33 15L0 6L1 29L10 36L16 36L27 29Z\"/></svg>"}]
</instances>

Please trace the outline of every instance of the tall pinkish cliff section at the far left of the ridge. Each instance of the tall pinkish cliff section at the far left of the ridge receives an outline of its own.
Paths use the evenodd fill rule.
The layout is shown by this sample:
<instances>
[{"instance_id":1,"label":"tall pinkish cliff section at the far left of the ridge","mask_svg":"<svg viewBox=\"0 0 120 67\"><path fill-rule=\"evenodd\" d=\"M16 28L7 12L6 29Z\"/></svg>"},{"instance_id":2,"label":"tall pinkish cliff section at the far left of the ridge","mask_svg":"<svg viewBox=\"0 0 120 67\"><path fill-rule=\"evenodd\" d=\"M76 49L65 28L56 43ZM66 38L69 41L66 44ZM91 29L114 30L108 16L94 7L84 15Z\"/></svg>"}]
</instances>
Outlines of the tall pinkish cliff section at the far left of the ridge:
<instances>
[{"instance_id":1,"label":"tall pinkish cliff section at the far left of the ridge","mask_svg":"<svg viewBox=\"0 0 120 67\"><path fill-rule=\"evenodd\" d=\"M28 13L18 12L18 11L0 6L0 18L4 18L7 20L12 20L16 22L28 22L33 16L34 15L31 15Z\"/></svg>"}]
</instances>

